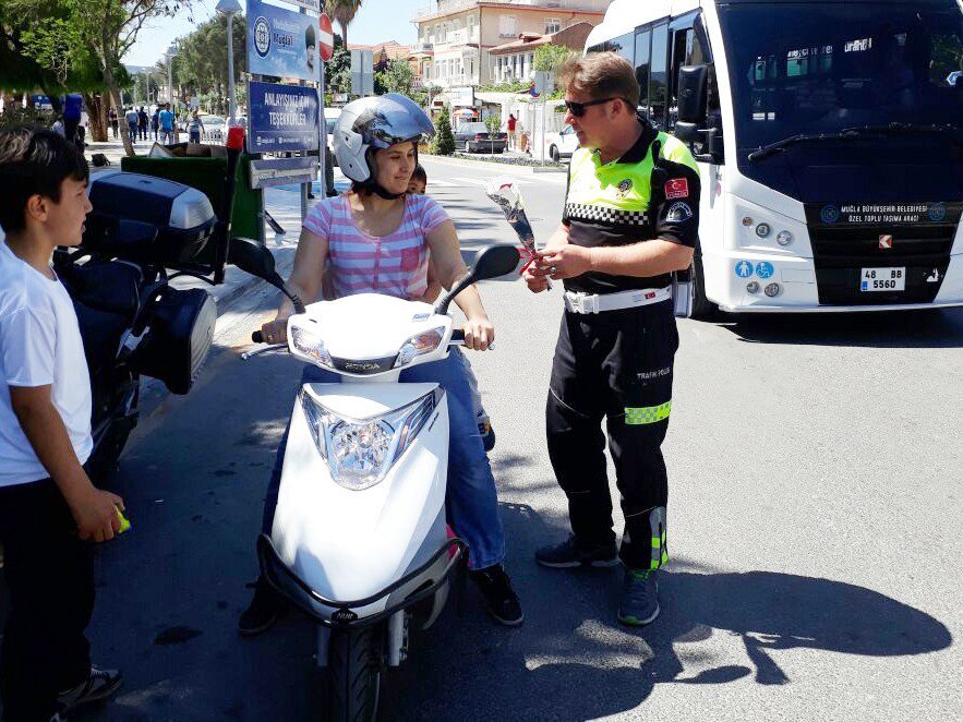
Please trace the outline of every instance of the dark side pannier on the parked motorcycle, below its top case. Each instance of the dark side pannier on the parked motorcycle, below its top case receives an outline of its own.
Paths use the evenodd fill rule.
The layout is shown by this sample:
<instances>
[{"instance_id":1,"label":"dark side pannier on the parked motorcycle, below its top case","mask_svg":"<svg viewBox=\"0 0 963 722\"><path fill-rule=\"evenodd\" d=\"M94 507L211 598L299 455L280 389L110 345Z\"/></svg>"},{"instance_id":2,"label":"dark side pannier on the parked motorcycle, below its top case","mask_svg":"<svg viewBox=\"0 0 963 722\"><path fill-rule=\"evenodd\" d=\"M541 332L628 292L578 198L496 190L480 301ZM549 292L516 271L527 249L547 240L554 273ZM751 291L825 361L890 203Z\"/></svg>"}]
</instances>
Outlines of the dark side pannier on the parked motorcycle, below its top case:
<instances>
[{"instance_id":1,"label":"dark side pannier on the parked motorcycle, below its top case","mask_svg":"<svg viewBox=\"0 0 963 722\"><path fill-rule=\"evenodd\" d=\"M131 354L131 366L159 378L172 394L186 394L214 341L214 299L203 288L166 286L152 303L151 325Z\"/></svg>"}]
</instances>

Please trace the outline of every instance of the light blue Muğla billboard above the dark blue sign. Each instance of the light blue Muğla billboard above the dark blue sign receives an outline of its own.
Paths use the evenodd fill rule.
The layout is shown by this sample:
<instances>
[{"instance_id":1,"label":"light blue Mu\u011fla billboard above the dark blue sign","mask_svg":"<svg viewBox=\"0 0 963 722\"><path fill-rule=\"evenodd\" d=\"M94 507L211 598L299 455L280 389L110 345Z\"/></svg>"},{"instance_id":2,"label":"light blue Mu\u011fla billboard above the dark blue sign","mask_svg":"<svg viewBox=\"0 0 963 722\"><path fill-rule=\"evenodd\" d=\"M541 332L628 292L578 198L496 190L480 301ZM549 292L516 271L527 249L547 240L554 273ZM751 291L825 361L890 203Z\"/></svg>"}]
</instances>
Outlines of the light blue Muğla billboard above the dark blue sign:
<instances>
[{"instance_id":1,"label":"light blue Mu\u011fla billboard above the dark blue sign","mask_svg":"<svg viewBox=\"0 0 963 722\"><path fill-rule=\"evenodd\" d=\"M248 71L256 75L320 80L317 17L248 0Z\"/></svg>"}]
</instances>

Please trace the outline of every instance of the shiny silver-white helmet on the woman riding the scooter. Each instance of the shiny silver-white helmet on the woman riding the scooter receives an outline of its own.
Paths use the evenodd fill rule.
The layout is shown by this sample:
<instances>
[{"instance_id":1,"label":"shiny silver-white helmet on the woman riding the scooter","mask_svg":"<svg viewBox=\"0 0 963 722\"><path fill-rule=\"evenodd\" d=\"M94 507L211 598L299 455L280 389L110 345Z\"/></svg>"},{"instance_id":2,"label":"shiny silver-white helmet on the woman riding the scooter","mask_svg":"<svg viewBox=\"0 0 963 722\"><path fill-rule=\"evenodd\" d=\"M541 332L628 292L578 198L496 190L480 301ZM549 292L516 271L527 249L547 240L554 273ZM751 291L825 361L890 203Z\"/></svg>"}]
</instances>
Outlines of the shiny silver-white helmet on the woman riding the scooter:
<instances>
[{"instance_id":1,"label":"shiny silver-white helmet on the woman riding the scooter","mask_svg":"<svg viewBox=\"0 0 963 722\"><path fill-rule=\"evenodd\" d=\"M359 183L373 182L369 151L433 137L434 125L417 103L398 93L359 98L346 105L332 133L341 172Z\"/></svg>"}]
</instances>

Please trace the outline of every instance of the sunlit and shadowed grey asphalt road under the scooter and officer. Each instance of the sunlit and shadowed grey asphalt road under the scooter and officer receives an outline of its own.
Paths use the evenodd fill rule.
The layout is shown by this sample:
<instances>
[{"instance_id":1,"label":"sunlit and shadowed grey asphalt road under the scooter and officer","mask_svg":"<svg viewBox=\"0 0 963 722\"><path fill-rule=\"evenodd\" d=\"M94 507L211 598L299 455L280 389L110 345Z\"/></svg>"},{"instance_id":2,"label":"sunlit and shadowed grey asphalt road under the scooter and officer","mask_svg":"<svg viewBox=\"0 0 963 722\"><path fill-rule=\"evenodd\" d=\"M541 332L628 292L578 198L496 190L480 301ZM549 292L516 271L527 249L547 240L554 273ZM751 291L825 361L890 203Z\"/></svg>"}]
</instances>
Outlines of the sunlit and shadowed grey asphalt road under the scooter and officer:
<instances>
[{"instance_id":1,"label":"sunlit and shadowed grey asphalt road under the scooter and officer","mask_svg":"<svg viewBox=\"0 0 963 722\"><path fill-rule=\"evenodd\" d=\"M482 168L426 160L467 248L511 233ZM519 175L544 239L564 177ZM470 590L387 675L385 720L959 719L963 313L679 323L663 613L614 619L618 570L539 568L566 533L543 408L558 290L487 282L496 349L471 356L497 431L507 562L527 619ZM261 290L221 317L198 387L135 432L117 481L133 530L98 561L96 659L127 674L84 720L322 719L314 629L234 631L297 364L238 353ZM617 506L617 505L616 505Z\"/></svg>"}]
</instances>

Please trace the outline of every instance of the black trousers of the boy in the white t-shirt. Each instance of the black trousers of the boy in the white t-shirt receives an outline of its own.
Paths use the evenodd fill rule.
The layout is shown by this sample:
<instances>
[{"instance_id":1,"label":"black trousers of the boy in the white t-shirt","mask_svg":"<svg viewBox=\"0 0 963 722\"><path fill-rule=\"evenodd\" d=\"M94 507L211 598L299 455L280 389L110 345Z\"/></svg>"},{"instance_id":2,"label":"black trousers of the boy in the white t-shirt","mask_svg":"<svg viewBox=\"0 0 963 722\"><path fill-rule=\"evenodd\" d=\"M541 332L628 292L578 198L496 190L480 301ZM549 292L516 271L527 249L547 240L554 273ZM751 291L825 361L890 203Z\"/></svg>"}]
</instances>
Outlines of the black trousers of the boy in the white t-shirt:
<instances>
[{"instance_id":1,"label":"black trousers of the boy in the white t-shirt","mask_svg":"<svg viewBox=\"0 0 963 722\"><path fill-rule=\"evenodd\" d=\"M58 693L91 674L94 545L49 479L0 488L10 614L0 655L4 722L48 722Z\"/></svg>"}]
</instances>

